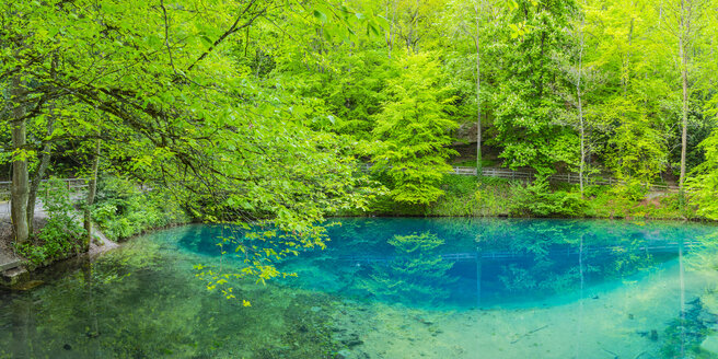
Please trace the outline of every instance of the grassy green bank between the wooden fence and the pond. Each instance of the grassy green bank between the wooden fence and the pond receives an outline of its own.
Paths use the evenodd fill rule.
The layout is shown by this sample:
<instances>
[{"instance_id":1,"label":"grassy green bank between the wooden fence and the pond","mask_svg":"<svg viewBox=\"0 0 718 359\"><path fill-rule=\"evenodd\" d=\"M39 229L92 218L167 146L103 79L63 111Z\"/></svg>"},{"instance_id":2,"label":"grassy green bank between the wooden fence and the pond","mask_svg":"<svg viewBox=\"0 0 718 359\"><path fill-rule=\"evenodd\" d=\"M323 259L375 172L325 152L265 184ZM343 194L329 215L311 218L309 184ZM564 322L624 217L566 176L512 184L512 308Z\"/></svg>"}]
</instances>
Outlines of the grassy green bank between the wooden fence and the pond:
<instances>
[{"instance_id":1,"label":"grassy green bank between the wooden fence and the pond","mask_svg":"<svg viewBox=\"0 0 718 359\"><path fill-rule=\"evenodd\" d=\"M699 219L691 206L682 209L676 193L649 193L640 186L587 186L449 175L444 195L428 206L378 198L369 213L437 217L561 217L625 219ZM358 212L346 215L361 215Z\"/></svg>"}]
</instances>

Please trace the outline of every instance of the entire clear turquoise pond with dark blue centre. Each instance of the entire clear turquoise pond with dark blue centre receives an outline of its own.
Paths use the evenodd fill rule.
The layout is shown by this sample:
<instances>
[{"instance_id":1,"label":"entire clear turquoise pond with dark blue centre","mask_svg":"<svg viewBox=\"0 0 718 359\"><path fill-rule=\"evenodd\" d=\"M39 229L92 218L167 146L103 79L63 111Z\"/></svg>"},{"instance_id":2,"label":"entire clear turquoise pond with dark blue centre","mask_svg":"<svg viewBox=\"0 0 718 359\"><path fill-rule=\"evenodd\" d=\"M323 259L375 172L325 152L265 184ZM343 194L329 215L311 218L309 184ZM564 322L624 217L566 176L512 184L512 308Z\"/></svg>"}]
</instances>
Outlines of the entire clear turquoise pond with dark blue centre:
<instances>
[{"instance_id":1,"label":"entire clear turquoise pond with dark blue centre","mask_svg":"<svg viewBox=\"0 0 718 359\"><path fill-rule=\"evenodd\" d=\"M332 222L326 250L278 263L298 277L230 283L240 300L195 276L242 266L220 225L48 268L0 291L0 358L718 357L716 225Z\"/></svg>"}]
</instances>

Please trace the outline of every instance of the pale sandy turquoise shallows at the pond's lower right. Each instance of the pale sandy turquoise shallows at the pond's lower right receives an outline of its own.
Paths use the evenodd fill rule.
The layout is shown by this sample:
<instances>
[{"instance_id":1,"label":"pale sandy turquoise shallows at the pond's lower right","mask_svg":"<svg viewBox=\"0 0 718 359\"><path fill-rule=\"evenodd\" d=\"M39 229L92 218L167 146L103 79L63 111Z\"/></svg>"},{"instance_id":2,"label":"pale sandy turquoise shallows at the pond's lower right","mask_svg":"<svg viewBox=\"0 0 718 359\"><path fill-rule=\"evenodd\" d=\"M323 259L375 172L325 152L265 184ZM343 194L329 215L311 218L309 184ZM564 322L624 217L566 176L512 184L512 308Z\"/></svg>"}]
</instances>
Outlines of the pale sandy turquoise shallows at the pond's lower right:
<instances>
[{"instance_id":1,"label":"pale sandy turquoise shallows at the pond's lower right","mask_svg":"<svg viewBox=\"0 0 718 359\"><path fill-rule=\"evenodd\" d=\"M366 358L673 358L680 357L680 331L665 329L680 317L678 273L678 263L670 263L648 275L650 281L593 287L590 297L578 301L556 298L470 311L387 304L357 311L348 305L336 317L340 326L360 334L364 345L359 351ZM700 287L718 282L718 276L696 273L684 280L686 287ZM700 293L684 294L695 299ZM686 310L695 306L687 304ZM692 337L684 336L687 356Z\"/></svg>"}]
</instances>

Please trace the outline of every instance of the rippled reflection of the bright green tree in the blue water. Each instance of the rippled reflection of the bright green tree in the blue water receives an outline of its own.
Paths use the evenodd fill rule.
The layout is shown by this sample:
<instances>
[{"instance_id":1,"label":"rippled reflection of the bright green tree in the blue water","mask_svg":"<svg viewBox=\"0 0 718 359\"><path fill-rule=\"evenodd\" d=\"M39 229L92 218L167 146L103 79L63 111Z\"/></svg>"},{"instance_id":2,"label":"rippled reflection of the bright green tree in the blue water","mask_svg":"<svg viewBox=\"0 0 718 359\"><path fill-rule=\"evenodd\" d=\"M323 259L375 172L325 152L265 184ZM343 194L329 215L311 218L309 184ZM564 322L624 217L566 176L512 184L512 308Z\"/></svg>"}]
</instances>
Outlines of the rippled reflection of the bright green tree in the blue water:
<instances>
[{"instance_id":1,"label":"rippled reflection of the bright green tree in the blue water","mask_svg":"<svg viewBox=\"0 0 718 359\"><path fill-rule=\"evenodd\" d=\"M432 303L449 294L447 271L453 263L443 260L437 252L443 240L424 232L394 235L389 244L397 256L389 264L374 265L371 280L363 282L364 289L378 298L419 303Z\"/></svg>"}]
</instances>

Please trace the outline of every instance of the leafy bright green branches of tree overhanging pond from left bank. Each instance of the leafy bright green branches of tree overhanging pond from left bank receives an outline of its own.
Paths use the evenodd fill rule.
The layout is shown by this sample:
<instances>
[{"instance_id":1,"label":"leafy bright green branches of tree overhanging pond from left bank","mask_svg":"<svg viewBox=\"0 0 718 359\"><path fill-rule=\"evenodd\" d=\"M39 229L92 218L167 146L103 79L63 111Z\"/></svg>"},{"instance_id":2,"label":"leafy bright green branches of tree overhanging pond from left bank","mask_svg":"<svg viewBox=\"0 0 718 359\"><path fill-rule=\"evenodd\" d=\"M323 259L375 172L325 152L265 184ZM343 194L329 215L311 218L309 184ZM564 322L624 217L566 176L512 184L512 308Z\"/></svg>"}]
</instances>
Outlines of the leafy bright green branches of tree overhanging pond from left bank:
<instances>
[{"instance_id":1,"label":"leafy bright green branches of tree overhanging pond from left bank","mask_svg":"<svg viewBox=\"0 0 718 359\"><path fill-rule=\"evenodd\" d=\"M325 27L338 37L349 25L377 27L373 16L348 8L313 5L5 1L0 79L21 73L33 128L42 128L36 120L48 113L48 99L72 104L47 140L90 149L85 143L101 137L105 172L158 192L99 207L95 219L111 236L165 224L160 212L167 208L143 209L140 200L172 198L198 220L271 225L277 232L267 240L280 246L323 246L317 223L325 213L361 208L369 195L351 142L319 130L326 111L296 96L289 81L264 82L257 73L270 66L238 61L248 45L240 36L248 38L257 24L274 26L275 15L305 31L334 21ZM292 59L306 45L294 44L285 49ZM277 275L263 252L246 247L255 268L247 273Z\"/></svg>"}]
</instances>

